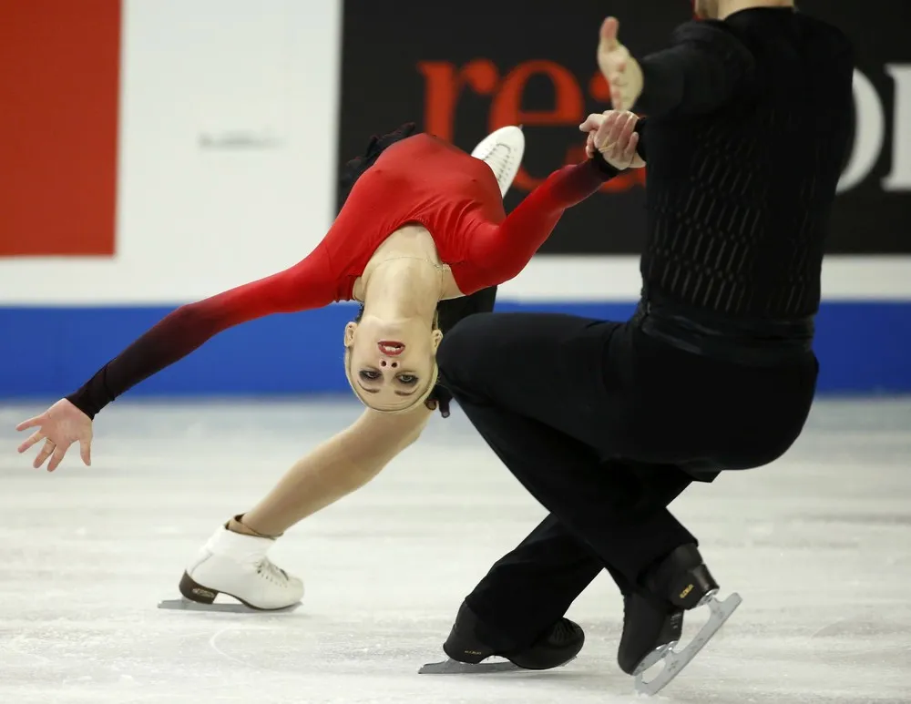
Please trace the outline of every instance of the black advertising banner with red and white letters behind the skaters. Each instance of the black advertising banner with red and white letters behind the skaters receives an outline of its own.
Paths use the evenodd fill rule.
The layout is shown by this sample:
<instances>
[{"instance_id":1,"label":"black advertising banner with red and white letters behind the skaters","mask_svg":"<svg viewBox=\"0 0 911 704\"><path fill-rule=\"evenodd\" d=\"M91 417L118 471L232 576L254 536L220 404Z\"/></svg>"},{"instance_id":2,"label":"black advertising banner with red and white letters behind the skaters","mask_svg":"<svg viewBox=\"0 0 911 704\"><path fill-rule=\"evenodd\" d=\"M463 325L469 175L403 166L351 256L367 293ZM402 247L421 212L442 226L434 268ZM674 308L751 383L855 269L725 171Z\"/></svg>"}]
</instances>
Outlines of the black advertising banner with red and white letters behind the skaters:
<instances>
[{"instance_id":1,"label":"black advertising banner with red and white letters behind the skaters","mask_svg":"<svg viewBox=\"0 0 911 704\"><path fill-rule=\"evenodd\" d=\"M855 146L829 251L911 253L911 1L813 0L802 11L855 42ZM548 174L582 158L578 124L609 109L595 62L608 14L635 54L667 46L689 0L345 0L339 166L371 135L415 121L468 151L504 125L527 149L507 209ZM645 170L614 179L569 209L542 248L551 254L636 254L645 226Z\"/></svg>"}]
</instances>

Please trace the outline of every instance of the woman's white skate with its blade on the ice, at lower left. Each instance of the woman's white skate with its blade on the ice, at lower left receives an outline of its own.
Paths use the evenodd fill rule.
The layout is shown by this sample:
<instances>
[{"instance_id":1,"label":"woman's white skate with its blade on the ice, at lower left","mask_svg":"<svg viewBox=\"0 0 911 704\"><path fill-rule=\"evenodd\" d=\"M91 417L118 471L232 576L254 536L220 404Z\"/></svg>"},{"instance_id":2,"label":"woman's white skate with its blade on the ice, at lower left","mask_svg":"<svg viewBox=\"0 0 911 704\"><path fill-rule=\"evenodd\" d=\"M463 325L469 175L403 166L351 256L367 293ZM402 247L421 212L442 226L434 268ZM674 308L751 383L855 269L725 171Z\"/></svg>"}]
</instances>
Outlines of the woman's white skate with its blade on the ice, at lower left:
<instances>
[{"instance_id":1,"label":"woman's white skate with its blade on the ice, at lower left","mask_svg":"<svg viewBox=\"0 0 911 704\"><path fill-rule=\"evenodd\" d=\"M276 611L297 607L303 597L303 582L271 563L266 553L274 542L220 526L180 579L184 599L163 601L159 608ZM234 597L244 607L214 604L219 594Z\"/></svg>"}]
</instances>

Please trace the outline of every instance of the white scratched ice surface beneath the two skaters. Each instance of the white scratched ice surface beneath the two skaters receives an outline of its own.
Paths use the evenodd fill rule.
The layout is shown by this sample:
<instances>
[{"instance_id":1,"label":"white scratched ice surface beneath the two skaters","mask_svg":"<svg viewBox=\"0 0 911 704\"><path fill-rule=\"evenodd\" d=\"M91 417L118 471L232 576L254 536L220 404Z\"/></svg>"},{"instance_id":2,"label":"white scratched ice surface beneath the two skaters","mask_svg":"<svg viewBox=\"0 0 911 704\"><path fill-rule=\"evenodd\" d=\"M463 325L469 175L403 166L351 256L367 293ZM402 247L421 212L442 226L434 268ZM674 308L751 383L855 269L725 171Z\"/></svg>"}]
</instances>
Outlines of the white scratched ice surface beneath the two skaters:
<instances>
[{"instance_id":1,"label":"white scratched ice surface beneath the two skaters","mask_svg":"<svg viewBox=\"0 0 911 704\"><path fill-rule=\"evenodd\" d=\"M94 466L15 454L0 406L0 702L630 702L621 604L604 576L568 616L588 640L543 673L418 676L491 563L544 515L455 411L373 484L281 539L290 614L156 608L184 563L298 455L342 401L117 403ZM911 401L821 401L782 461L694 486L673 508L722 595L744 602L656 701L911 702ZM698 623L696 624L698 626ZM685 638L689 636L685 635Z\"/></svg>"}]
</instances>

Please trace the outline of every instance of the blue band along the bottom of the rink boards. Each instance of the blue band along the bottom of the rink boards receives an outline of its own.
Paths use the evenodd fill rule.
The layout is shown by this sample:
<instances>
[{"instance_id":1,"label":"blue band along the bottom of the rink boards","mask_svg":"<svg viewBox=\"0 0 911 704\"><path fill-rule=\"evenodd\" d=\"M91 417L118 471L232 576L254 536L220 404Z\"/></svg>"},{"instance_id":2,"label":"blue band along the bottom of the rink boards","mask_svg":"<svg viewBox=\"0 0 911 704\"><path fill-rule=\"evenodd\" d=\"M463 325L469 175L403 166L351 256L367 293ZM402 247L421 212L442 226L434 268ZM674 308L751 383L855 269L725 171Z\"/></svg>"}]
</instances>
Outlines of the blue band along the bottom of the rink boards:
<instances>
[{"instance_id":1,"label":"blue band along the bottom of the rink boards","mask_svg":"<svg viewBox=\"0 0 911 704\"><path fill-rule=\"evenodd\" d=\"M631 303L517 304L623 320ZM59 397L171 308L0 308L0 397ZM342 336L354 306L277 315L222 332L127 395L340 393ZM816 321L821 393L911 392L911 301L828 302Z\"/></svg>"}]
</instances>

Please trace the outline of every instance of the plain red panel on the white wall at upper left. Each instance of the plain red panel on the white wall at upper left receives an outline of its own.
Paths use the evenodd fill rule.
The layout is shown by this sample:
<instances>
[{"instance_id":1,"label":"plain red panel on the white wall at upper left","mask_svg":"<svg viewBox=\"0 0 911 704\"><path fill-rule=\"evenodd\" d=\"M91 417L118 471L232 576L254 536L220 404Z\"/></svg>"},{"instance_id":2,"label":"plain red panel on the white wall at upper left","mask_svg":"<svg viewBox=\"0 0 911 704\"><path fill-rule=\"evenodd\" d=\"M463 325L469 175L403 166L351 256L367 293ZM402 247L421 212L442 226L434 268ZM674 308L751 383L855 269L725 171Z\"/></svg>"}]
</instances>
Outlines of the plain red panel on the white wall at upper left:
<instances>
[{"instance_id":1,"label":"plain red panel on the white wall at upper left","mask_svg":"<svg viewBox=\"0 0 911 704\"><path fill-rule=\"evenodd\" d=\"M111 255L120 0L0 0L0 257Z\"/></svg>"}]
</instances>

